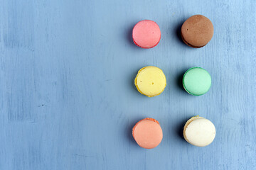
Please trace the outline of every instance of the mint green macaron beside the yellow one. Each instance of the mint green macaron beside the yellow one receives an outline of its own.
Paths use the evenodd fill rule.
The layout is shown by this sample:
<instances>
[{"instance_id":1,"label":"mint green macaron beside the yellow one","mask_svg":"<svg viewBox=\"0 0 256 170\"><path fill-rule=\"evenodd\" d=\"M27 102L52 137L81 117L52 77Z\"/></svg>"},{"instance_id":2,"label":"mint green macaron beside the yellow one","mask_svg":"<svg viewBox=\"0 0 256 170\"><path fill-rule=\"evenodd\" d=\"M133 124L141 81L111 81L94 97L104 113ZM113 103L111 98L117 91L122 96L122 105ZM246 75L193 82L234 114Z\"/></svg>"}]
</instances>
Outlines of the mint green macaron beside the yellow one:
<instances>
[{"instance_id":1,"label":"mint green macaron beside the yellow one","mask_svg":"<svg viewBox=\"0 0 256 170\"><path fill-rule=\"evenodd\" d=\"M182 84L188 94L201 96L210 89L210 74L201 67L192 67L183 75Z\"/></svg>"}]
</instances>

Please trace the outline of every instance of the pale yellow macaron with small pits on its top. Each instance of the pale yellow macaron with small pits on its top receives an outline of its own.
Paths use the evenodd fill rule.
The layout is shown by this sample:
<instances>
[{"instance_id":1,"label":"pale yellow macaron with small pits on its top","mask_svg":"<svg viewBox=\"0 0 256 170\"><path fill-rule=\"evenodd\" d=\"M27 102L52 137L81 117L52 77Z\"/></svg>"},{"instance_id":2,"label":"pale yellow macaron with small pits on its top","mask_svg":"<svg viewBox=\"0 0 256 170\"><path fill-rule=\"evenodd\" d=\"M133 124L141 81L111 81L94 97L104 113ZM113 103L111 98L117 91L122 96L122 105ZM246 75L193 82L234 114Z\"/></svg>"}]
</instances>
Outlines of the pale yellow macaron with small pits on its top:
<instances>
[{"instance_id":1,"label":"pale yellow macaron with small pits on its top","mask_svg":"<svg viewBox=\"0 0 256 170\"><path fill-rule=\"evenodd\" d=\"M147 66L139 69L134 84L139 93L148 97L161 94L166 87L166 77L164 72L158 67Z\"/></svg>"}]
</instances>

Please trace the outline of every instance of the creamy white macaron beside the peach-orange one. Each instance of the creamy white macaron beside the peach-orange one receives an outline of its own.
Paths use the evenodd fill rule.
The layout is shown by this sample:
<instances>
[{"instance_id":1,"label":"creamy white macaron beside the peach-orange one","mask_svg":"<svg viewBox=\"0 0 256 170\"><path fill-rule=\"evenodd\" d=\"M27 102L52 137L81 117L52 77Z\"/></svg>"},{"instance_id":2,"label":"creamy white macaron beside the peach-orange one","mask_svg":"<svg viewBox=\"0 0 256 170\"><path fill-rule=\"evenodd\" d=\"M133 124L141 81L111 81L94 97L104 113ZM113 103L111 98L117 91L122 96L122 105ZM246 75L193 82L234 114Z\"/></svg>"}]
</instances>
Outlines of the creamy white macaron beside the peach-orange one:
<instances>
[{"instance_id":1,"label":"creamy white macaron beside the peach-orange one","mask_svg":"<svg viewBox=\"0 0 256 170\"><path fill-rule=\"evenodd\" d=\"M183 129L185 140L197 147L206 147L213 142L216 130L210 120L199 116L189 119Z\"/></svg>"}]
</instances>

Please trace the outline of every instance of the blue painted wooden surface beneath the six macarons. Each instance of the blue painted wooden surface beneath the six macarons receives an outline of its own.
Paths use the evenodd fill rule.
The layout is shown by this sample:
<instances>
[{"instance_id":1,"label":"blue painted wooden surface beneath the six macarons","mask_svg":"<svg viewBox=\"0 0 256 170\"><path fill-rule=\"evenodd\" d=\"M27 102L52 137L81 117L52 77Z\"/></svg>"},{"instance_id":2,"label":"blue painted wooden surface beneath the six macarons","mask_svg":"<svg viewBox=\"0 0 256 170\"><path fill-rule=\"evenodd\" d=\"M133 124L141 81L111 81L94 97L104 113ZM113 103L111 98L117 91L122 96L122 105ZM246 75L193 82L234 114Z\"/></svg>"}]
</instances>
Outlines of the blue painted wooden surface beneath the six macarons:
<instances>
[{"instance_id":1,"label":"blue painted wooden surface beneath the six macarons","mask_svg":"<svg viewBox=\"0 0 256 170\"><path fill-rule=\"evenodd\" d=\"M201 49L179 36L189 16L213 22ZM159 45L142 49L132 28L150 19ZM0 169L256 169L256 1L0 0ZM163 69L167 86L147 98L137 71ZM182 89L203 67L210 91ZM215 124L208 147L182 137L186 120ZM142 118L159 120L155 149L132 139Z\"/></svg>"}]
</instances>

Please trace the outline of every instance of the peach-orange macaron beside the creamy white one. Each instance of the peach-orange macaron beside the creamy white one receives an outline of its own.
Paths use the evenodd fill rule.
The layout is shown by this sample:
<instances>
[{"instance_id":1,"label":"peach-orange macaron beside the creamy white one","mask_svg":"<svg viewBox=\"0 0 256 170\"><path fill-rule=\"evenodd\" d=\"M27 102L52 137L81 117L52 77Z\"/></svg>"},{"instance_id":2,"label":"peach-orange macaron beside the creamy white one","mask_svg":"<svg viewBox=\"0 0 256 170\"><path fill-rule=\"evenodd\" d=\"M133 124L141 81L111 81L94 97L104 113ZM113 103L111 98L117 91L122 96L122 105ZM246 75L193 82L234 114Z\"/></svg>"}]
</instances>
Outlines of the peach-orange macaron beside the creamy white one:
<instances>
[{"instance_id":1,"label":"peach-orange macaron beside the creamy white one","mask_svg":"<svg viewBox=\"0 0 256 170\"><path fill-rule=\"evenodd\" d=\"M145 118L134 125L132 136L140 147L152 149L160 144L163 131L157 120Z\"/></svg>"}]
</instances>

